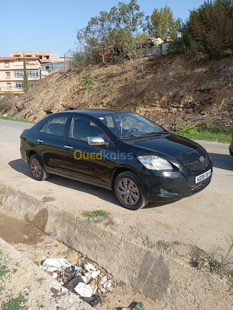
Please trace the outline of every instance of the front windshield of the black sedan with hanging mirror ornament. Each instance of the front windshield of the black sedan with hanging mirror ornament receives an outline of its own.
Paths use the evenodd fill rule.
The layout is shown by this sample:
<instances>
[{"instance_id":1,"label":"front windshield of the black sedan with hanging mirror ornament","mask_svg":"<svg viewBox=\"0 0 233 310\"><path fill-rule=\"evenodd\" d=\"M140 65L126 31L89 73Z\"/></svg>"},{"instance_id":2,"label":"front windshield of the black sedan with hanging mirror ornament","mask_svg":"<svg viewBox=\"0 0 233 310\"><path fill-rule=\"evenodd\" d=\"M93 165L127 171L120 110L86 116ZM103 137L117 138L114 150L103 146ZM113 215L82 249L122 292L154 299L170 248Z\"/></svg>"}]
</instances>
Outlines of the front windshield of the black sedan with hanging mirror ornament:
<instances>
[{"instance_id":1,"label":"front windshield of the black sedan with hanging mirror ornament","mask_svg":"<svg viewBox=\"0 0 233 310\"><path fill-rule=\"evenodd\" d=\"M134 113L112 113L98 116L98 119L121 139L145 137L147 135L167 132L161 126Z\"/></svg>"}]
</instances>

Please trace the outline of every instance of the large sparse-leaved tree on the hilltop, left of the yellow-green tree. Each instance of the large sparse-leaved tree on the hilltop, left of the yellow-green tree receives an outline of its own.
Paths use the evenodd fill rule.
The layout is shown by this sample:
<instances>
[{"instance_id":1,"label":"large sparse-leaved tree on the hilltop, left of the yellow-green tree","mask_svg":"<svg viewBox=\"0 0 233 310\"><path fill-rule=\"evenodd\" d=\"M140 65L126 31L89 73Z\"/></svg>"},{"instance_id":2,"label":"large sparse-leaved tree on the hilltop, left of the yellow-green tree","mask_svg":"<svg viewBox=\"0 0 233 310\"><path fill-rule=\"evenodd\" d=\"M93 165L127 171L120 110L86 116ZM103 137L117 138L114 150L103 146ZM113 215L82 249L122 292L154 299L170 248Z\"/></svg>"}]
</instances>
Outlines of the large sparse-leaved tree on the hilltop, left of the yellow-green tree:
<instances>
[{"instance_id":1,"label":"large sparse-leaved tree on the hilltop, left of the yellow-green tree","mask_svg":"<svg viewBox=\"0 0 233 310\"><path fill-rule=\"evenodd\" d=\"M78 41L86 47L87 54L94 60L96 56L101 55L104 64L105 51L109 46L125 43L126 34L130 42L134 39L135 45L134 34L139 29L145 30L144 15L136 0L131 0L129 4L119 2L109 13L100 12L98 16L90 19L85 28L79 29Z\"/></svg>"}]
</instances>

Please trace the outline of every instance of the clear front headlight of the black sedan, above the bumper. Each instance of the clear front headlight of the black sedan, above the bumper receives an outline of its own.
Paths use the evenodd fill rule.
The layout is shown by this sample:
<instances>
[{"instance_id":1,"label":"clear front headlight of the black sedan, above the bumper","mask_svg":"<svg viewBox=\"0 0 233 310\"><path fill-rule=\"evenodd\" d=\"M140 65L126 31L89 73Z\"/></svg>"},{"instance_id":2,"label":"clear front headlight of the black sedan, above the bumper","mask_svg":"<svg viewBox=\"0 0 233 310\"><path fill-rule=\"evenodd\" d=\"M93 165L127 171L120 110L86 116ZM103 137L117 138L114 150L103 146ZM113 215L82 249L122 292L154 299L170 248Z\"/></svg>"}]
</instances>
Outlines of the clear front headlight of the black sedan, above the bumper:
<instances>
[{"instance_id":1,"label":"clear front headlight of the black sedan, above the bumper","mask_svg":"<svg viewBox=\"0 0 233 310\"><path fill-rule=\"evenodd\" d=\"M158 156L139 156L138 160L143 164L143 166L150 170L172 170L172 166L169 162Z\"/></svg>"}]
</instances>

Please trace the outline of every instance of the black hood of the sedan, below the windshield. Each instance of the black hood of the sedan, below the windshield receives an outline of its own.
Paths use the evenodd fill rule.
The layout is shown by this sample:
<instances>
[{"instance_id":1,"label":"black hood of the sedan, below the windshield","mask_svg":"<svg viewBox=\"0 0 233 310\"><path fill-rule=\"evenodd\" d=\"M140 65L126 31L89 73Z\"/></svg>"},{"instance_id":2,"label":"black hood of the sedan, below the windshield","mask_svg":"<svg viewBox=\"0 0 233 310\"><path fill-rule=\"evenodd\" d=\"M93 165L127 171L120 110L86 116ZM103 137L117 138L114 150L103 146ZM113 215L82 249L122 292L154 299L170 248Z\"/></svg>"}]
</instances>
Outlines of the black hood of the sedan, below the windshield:
<instances>
[{"instance_id":1,"label":"black hood of the sedan, below the windshield","mask_svg":"<svg viewBox=\"0 0 233 310\"><path fill-rule=\"evenodd\" d=\"M143 153L159 153L160 156L163 154L164 157L174 157L196 150L200 147L200 145L194 141L175 134L161 135L160 137L154 137L154 139L150 138L143 141L135 141L129 143L129 146Z\"/></svg>"}]
</instances>

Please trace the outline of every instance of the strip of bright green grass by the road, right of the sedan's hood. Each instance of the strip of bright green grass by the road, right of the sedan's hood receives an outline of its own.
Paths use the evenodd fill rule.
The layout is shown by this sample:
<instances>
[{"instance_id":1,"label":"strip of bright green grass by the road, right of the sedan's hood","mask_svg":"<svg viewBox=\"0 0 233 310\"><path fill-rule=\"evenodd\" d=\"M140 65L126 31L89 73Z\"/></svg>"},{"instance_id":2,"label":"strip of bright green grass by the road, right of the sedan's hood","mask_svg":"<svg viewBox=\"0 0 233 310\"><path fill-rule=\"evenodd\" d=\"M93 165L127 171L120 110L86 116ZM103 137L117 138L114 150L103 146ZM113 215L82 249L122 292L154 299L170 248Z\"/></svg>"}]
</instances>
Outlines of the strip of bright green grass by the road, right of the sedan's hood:
<instances>
[{"instance_id":1,"label":"strip of bright green grass by the road, right of the sedan's hood","mask_svg":"<svg viewBox=\"0 0 233 310\"><path fill-rule=\"evenodd\" d=\"M208 131L203 131L203 132L199 132L198 133L180 133L177 132L178 135L181 135L185 138L188 139L194 139L194 140L206 140L206 141L218 141L218 142L227 142L227 143L231 143L231 135L227 135L227 134L213 134L211 132Z\"/></svg>"}]
</instances>

